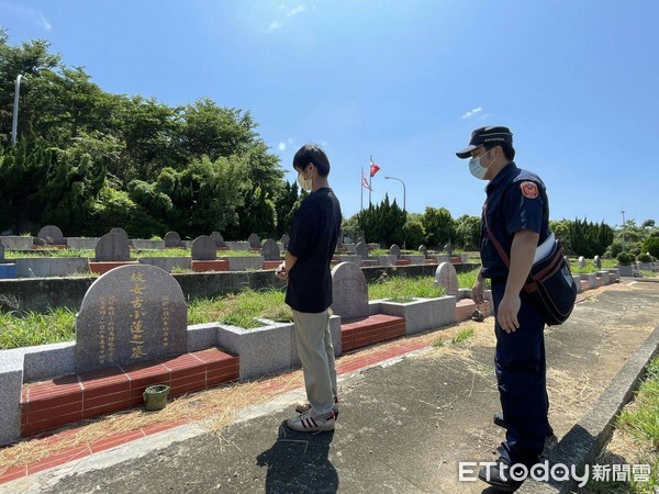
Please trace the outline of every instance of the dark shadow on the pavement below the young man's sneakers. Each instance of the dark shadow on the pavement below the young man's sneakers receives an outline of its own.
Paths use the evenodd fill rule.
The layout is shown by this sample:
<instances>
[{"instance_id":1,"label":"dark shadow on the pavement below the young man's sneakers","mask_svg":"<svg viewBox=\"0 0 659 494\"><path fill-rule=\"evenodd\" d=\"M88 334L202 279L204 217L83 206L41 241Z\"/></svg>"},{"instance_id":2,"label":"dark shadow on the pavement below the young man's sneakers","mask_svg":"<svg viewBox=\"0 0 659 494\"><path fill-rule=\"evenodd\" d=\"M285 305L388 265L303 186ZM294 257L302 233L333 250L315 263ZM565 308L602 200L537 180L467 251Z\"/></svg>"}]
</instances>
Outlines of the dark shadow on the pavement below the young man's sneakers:
<instances>
[{"instance_id":1,"label":"dark shadow on the pavement below the young man's sneakers","mask_svg":"<svg viewBox=\"0 0 659 494\"><path fill-rule=\"evenodd\" d=\"M267 467L266 493L336 493L338 474L330 462L334 430L298 433L286 422L279 426L275 444L256 457L256 464Z\"/></svg>"}]
</instances>

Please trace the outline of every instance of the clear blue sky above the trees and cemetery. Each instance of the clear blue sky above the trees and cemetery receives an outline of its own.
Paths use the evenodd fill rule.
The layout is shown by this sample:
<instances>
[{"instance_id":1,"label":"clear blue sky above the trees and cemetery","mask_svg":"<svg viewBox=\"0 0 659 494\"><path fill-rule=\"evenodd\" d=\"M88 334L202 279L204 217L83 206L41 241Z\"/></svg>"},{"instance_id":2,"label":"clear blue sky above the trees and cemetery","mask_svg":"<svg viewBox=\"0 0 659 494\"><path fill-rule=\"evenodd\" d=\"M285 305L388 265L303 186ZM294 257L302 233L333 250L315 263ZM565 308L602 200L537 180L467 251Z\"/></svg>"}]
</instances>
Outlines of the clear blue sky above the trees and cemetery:
<instances>
[{"instance_id":1,"label":"clear blue sky above the trees and cemetery","mask_svg":"<svg viewBox=\"0 0 659 494\"><path fill-rule=\"evenodd\" d=\"M507 125L551 220L659 220L655 0L0 0L10 43L44 38L113 93L249 110L289 180L324 146L344 215L371 200L480 215L455 151ZM368 204L368 191L364 191Z\"/></svg>"}]
</instances>

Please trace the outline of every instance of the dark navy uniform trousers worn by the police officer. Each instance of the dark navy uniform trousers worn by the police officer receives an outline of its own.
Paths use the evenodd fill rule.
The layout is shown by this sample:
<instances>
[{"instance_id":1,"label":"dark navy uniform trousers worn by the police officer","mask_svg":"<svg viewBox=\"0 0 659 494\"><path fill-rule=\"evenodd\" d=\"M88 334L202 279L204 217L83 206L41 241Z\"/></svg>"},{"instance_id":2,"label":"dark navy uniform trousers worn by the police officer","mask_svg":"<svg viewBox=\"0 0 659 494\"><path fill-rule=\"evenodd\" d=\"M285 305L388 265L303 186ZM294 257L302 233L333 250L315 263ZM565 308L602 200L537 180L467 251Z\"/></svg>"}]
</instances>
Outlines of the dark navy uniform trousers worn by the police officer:
<instances>
[{"instance_id":1,"label":"dark navy uniform trousers worn by the police officer","mask_svg":"<svg viewBox=\"0 0 659 494\"><path fill-rule=\"evenodd\" d=\"M494 313L503 299L505 280L492 280ZM549 397L545 362L545 322L521 295L520 328L506 333L496 322L494 364L503 418L507 425L502 457L528 467L538 461L545 437L551 428L547 419Z\"/></svg>"}]
</instances>

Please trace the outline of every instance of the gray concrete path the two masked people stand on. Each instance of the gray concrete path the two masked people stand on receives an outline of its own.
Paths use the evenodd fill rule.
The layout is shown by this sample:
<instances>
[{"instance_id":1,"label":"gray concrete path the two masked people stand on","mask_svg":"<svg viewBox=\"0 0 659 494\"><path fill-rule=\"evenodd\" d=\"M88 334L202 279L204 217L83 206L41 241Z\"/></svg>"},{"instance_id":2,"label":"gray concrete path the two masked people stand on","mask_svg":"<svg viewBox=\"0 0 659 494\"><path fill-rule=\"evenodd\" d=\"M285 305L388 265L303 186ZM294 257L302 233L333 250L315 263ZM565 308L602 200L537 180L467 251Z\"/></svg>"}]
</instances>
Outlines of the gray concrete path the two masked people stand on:
<instances>
[{"instance_id":1,"label":"gray concrete path the two masked people stand on","mask_svg":"<svg viewBox=\"0 0 659 494\"><path fill-rule=\"evenodd\" d=\"M546 336L550 420L560 439L554 451L573 461L587 458L579 441L601 447L621 390L635 385L640 371L634 370L659 343L659 283L627 280L587 295ZM463 323L474 328L463 346L427 348L344 375L332 433L283 425L299 390L245 409L222 436L202 424L178 427L0 485L0 493L494 492L458 481L459 461L493 461L503 439L491 422L499 408L492 324ZM618 398L608 400L612 393ZM593 422L591 408L602 400L607 416ZM577 434L584 427L585 436Z\"/></svg>"}]
</instances>

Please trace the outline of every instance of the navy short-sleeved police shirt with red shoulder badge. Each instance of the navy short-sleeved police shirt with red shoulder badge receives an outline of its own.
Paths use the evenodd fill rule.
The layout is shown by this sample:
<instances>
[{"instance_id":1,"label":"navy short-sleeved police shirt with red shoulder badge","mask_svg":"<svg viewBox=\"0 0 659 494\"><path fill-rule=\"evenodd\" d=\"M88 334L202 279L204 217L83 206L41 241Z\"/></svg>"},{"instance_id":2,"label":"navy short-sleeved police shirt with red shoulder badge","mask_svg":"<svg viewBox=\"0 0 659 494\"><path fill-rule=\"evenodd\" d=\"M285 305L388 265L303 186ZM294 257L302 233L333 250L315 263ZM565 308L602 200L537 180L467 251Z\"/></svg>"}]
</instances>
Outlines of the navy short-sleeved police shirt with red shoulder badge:
<instances>
[{"instance_id":1,"label":"navy short-sleeved police shirt with red shoulder badge","mask_svg":"<svg viewBox=\"0 0 659 494\"><path fill-rule=\"evenodd\" d=\"M481 217L481 274L483 278L507 278L509 268L490 239L488 227L509 259L513 237L520 229L539 234L538 245L541 244L549 236L545 184L537 175L522 170L511 161L488 183L485 192L488 198Z\"/></svg>"}]
</instances>

